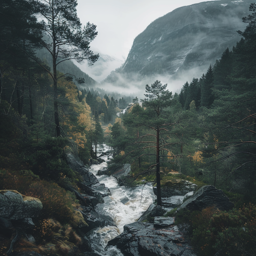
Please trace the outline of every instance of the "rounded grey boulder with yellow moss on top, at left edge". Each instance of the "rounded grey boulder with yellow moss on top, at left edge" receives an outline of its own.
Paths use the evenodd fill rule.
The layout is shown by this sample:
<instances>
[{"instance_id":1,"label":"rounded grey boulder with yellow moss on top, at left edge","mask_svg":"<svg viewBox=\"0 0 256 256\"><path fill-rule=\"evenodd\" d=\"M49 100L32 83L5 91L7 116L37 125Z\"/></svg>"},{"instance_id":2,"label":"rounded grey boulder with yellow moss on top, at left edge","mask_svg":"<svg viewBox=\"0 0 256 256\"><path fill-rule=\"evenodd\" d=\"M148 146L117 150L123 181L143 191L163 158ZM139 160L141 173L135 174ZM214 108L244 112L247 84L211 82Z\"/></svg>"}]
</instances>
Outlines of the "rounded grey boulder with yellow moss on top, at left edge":
<instances>
[{"instance_id":1,"label":"rounded grey boulder with yellow moss on top, at left edge","mask_svg":"<svg viewBox=\"0 0 256 256\"><path fill-rule=\"evenodd\" d=\"M21 195L16 190L0 190L0 205L0 217L10 220L31 218L43 208L38 198Z\"/></svg>"}]
</instances>

